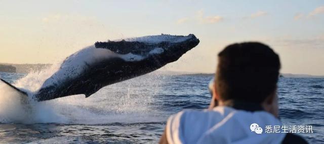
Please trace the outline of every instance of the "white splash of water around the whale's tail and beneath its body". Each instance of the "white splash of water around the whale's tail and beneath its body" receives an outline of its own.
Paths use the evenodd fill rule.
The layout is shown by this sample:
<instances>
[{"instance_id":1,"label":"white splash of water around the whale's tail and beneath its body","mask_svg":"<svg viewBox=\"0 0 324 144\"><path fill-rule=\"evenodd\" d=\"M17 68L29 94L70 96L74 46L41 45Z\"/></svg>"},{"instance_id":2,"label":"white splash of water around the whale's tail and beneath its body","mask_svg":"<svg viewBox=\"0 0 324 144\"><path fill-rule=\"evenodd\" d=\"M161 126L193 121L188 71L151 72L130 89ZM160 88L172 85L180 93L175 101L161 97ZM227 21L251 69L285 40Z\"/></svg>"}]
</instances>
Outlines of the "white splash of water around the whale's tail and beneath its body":
<instances>
[{"instance_id":1,"label":"white splash of water around the whale's tail and beneath its body","mask_svg":"<svg viewBox=\"0 0 324 144\"><path fill-rule=\"evenodd\" d=\"M29 92L36 91L60 68L61 63L31 72L14 85ZM154 115L152 96L163 82L159 78L161 76L146 75L105 87L89 98L74 95L43 102L36 102L31 97L24 102L19 93L0 84L0 123L105 124L154 121L148 117Z\"/></svg>"}]
</instances>

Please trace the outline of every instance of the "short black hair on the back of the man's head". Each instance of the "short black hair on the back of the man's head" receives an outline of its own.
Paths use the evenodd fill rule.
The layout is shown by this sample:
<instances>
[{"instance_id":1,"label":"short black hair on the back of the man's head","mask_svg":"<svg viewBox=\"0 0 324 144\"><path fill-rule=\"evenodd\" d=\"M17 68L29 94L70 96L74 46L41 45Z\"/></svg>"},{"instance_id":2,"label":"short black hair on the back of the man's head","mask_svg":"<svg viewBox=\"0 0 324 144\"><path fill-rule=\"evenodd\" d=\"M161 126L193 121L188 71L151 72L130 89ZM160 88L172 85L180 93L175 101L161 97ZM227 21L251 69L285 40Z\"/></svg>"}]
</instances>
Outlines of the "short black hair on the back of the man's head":
<instances>
[{"instance_id":1,"label":"short black hair on the back of the man's head","mask_svg":"<svg viewBox=\"0 0 324 144\"><path fill-rule=\"evenodd\" d=\"M218 54L215 88L222 100L263 102L275 91L279 56L258 42L227 46Z\"/></svg>"}]
</instances>

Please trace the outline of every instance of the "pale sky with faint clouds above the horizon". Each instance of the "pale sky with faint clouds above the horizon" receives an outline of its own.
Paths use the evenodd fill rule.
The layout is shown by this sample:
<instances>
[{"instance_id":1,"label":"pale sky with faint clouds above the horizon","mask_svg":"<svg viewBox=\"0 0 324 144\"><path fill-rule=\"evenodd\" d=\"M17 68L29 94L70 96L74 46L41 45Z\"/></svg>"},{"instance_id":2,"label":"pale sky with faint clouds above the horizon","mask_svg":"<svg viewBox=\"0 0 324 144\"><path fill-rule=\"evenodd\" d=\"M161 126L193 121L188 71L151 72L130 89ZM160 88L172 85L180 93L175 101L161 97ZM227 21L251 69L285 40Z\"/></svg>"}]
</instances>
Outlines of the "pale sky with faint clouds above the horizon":
<instances>
[{"instance_id":1,"label":"pale sky with faint clouds above the horizon","mask_svg":"<svg viewBox=\"0 0 324 144\"><path fill-rule=\"evenodd\" d=\"M3 1L0 63L57 63L97 41L161 33L200 40L162 70L214 73L232 43L259 41L281 73L324 75L324 1Z\"/></svg>"}]
</instances>

